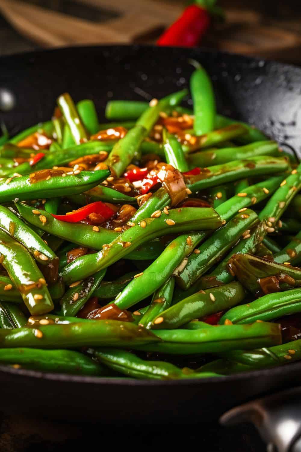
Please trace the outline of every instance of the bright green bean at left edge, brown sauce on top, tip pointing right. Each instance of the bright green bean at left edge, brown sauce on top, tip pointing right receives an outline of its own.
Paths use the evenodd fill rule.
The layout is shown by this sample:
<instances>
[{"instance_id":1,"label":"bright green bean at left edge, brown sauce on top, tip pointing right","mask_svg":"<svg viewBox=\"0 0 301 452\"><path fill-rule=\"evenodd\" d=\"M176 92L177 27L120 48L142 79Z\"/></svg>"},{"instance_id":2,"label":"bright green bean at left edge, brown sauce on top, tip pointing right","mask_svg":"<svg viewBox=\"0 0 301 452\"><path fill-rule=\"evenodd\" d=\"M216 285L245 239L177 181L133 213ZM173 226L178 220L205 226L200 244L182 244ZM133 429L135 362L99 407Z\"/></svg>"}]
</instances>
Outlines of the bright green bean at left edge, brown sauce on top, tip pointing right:
<instances>
[{"instance_id":1,"label":"bright green bean at left edge, brown sauce on top, tip pointing right","mask_svg":"<svg viewBox=\"0 0 301 452\"><path fill-rule=\"evenodd\" d=\"M51 170L50 170L51 171ZM35 173L37 174L37 173ZM0 182L0 202L27 199L53 198L82 193L100 184L110 175L109 170L81 171L79 174L51 174L50 179L32 182L31 176L9 178Z\"/></svg>"}]
</instances>

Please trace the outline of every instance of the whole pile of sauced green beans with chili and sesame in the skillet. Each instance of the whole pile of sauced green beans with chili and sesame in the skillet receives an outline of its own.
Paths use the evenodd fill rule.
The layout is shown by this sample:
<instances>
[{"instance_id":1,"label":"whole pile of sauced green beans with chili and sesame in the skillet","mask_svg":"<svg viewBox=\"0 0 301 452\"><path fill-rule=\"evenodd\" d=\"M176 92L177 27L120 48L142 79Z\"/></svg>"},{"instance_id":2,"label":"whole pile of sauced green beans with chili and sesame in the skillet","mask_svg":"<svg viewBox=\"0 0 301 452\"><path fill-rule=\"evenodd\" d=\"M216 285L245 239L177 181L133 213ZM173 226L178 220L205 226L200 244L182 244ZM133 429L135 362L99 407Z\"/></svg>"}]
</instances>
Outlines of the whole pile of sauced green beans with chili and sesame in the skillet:
<instances>
[{"instance_id":1,"label":"whole pile of sauced green beans with chili and sesame in the skillet","mask_svg":"<svg viewBox=\"0 0 301 452\"><path fill-rule=\"evenodd\" d=\"M217 114L194 66L190 93L112 99L107 122L65 93L50 121L3 129L0 365L169 380L301 359L282 344L301 313L301 165Z\"/></svg>"}]
</instances>

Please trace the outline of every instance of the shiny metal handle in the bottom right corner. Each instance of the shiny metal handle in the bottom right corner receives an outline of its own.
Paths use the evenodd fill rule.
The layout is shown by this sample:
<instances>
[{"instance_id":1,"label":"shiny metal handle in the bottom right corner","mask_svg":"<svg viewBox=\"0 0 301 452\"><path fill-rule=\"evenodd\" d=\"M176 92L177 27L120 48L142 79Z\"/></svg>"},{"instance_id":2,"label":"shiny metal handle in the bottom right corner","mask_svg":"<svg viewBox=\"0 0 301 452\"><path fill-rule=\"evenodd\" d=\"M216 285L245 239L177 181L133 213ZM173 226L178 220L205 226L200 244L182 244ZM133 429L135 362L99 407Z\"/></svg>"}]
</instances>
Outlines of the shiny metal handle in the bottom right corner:
<instances>
[{"instance_id":1,"label":"shiny metal handle in the bottom right corner","mask_svg":"<svg viewBox=\"0 0 301 452\"><path fill-rule=\"evenodd\" d=\"M252 422L268 452L301 452L301 387L278 392L227 411L223 425Z\"/></svg>"}]
</instances>

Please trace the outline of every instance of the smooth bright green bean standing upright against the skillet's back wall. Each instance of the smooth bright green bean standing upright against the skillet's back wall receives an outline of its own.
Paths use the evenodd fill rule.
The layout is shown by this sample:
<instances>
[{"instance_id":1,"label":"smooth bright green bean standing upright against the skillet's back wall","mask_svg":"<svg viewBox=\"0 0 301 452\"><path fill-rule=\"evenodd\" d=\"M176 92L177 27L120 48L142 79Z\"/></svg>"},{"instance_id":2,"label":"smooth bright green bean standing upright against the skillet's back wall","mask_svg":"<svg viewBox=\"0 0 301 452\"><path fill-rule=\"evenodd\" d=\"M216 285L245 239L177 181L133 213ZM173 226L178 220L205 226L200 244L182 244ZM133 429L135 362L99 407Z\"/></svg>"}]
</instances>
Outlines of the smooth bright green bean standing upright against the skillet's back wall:
<instances>
[{"instance_id":1,"label":"smooth bright green bean standing upright against the skillet's back wall","mask_svg":"<svg viewBox=\"0 0 301 452\"><path fill-rule=\"evenodd\" d=\"M198 63L190 77L190 91L194 110L194 132L203 135L211 132L215 124L215 99L211 80Z\"/></svg>"}]
</instances>

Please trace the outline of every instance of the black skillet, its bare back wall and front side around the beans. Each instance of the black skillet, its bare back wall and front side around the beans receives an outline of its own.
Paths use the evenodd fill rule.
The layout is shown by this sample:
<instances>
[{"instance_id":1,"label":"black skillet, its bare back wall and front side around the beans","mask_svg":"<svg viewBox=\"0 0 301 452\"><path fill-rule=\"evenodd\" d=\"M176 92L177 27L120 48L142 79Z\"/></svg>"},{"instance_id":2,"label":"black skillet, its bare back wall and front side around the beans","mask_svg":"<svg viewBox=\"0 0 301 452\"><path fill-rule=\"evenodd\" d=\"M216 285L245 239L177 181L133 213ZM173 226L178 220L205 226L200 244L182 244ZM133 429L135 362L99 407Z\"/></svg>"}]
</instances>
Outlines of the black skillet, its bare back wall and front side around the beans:
<instances>
[{"instance_id":1,"label":"black skillet, its bare back wall and front side around the beans","mask_svg":"<svg viewBox=\"0 0 301 452\"><path fill-rule=\"evenodd\" d=\"M51 117L56 97L107 100L160 98L187 86L200 61L212 76L218 111L254 123L301 155L301 69L202 49L146 46L80 47L0 59L0 88L17 105L2 113L17 133ZM100 118L104 119L104 118ZM225 378L136 381L70 377L0 367L1 410L55 419L195 423L255 396L296 386L301 363Z\"/></svg>"}]
</instances>

